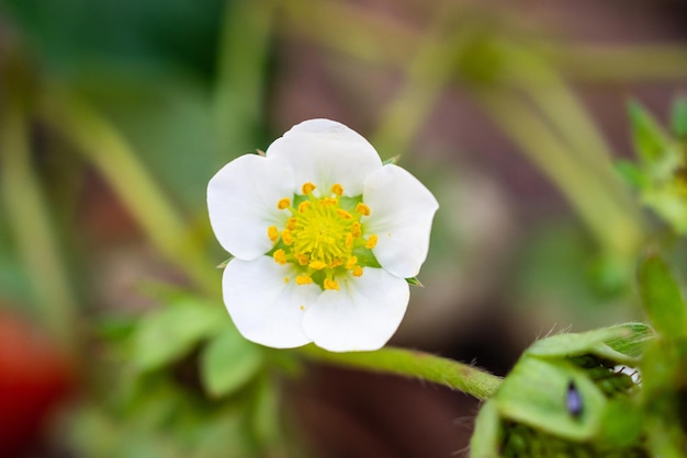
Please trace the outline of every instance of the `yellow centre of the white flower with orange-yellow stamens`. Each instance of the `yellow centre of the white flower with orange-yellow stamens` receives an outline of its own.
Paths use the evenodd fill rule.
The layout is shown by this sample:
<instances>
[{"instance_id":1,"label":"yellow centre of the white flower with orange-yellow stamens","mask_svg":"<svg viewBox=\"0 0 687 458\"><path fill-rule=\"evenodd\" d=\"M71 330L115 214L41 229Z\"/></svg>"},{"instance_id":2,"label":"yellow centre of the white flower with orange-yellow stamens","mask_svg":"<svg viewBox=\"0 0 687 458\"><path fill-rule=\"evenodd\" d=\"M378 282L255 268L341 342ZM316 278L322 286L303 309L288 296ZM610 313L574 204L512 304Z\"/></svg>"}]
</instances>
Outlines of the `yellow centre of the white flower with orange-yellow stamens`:
<instances>
[{"instance_id":1,"label":"yellow centre of the white flower with orange-yellow stamens","mask_svg":"<svg viewBox=\"0 0 687 458\"><path fill-rule=\"evenodd\" d=\"M375 263L362 260L374 260L371 250L378 236L365 237L360 218L370 215L370 207L359 198L342 197L340 184L331 186L329 195L315 197L316 187L304 183L303 194L296 195L293 203L289 197L279 199L277 208L290 211L291 217L283 228L268 228L274 243L271 254L279 264L297 266L296 284L316 283L324 289L339 289L337 278L361 276L363 266Z\"/></svg>"}]
</instances>

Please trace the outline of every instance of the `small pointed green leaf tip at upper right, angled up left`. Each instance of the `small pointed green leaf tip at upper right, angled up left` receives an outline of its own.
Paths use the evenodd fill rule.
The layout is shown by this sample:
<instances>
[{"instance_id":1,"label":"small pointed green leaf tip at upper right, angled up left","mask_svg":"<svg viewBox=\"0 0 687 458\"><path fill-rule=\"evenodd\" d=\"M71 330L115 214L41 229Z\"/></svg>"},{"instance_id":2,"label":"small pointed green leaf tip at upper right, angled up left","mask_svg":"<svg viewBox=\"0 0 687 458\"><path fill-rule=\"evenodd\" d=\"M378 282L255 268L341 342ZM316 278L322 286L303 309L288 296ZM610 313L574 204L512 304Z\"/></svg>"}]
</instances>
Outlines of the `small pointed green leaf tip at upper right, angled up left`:
<instances>
[{"instance_id":1,"label":"small pointed green leaf tip at upper right, angled up left","mask_svg":"<svg viewBox=\"0 0 687 458\"><path fill-rule=\"evenodd\" d=\"M647 163L661 160L672 147L666 133L639 102L630 101L628 113L632 125L634 148L639 156Z\"/></svg>"}]
</instances>

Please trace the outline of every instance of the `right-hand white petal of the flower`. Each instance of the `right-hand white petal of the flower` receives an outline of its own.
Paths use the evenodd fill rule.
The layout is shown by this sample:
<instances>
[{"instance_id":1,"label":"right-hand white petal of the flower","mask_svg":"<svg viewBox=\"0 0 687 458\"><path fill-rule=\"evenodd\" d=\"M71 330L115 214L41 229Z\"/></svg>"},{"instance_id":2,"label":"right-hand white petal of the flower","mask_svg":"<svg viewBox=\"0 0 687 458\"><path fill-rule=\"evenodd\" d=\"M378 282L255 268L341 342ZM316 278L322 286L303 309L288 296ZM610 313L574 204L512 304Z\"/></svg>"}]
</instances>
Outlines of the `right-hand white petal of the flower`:
<instances>
[{"instance_id":1,"label":"right-hand white petal of the flower","mask_svg":"<svg viewBox=\"0 0 687 458\"><path fill-rule=\"evenodd\" d=\"M365 179L362 198L371 211L365 232L379 237L372 251L382 267L404 278L417 275L439 208L435 196L406 170L387 164Z\"/></svg>"}]
</instances>

